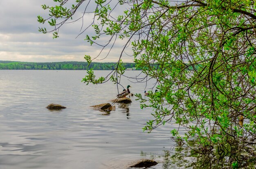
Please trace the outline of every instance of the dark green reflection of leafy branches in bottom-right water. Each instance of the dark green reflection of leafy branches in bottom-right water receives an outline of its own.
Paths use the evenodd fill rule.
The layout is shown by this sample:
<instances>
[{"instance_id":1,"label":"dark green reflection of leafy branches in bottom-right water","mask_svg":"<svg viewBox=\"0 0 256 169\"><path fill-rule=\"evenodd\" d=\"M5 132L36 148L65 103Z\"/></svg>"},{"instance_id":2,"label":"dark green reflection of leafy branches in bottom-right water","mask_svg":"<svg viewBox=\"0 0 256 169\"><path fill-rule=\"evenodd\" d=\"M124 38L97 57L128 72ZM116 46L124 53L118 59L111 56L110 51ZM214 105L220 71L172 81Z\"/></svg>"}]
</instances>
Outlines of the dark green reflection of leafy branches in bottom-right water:
<instances>
[{"instance_id":1,"label":"dark green reflection of leafy branches in bottom-right water","mask_svg":"<svg viewBox=\"0 0 256 169\"><path fill-rule=\"evenodd\" d=\"M176 166L189 169L255 169L256 143L244 144L231 137L229 141L214 147L198 145L196 140L188 141L186 146L177 144L171 159Z\"/></svg>"}]
</instances>

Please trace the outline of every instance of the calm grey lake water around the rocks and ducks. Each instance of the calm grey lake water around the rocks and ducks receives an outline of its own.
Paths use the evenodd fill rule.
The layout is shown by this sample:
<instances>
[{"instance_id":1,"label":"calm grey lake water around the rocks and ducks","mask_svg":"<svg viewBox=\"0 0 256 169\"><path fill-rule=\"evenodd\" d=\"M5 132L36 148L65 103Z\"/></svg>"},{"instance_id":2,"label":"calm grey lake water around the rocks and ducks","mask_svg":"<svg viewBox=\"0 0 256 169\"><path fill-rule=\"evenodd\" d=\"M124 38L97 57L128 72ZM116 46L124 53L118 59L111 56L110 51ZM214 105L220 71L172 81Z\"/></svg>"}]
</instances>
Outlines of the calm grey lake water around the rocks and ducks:
<instances>
[{"instance_id":1,"label":"calm grey lake water around the rocks and ducks","mask_svg":"<svg viewBox=\"0 0 256 169\"><path fill-rule=\"evenodd\" d=\"M173 152L170 131L177 126L142 132L151 109L141 110L135 97L130 104L116 104L110 114L92 110L91 105L114 99L117 88L112 83L85 85L85 73L0 70L0 169L124 169L141 158L159 162L151 169L173 168L163 156ZM137 74L127 71L128 76ZM144 93L145 84L121 83L130 84L132 93ZM49 111L49 103L67 109Z\"/></svg>"}]
</instances>

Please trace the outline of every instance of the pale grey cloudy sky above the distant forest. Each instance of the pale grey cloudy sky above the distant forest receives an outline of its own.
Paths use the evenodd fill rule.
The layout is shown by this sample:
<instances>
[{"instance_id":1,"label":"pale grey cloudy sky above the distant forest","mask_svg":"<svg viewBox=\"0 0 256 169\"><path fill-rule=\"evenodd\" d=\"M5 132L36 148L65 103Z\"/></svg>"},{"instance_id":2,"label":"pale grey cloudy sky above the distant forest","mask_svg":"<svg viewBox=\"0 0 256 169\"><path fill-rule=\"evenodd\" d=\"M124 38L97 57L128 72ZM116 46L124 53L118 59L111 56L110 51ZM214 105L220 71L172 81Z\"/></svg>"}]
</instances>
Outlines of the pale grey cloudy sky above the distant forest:
<instances>
[{"instance_id":1,"label":"pale grey cloudy sky above the distant forest","mask_svg":"<svg viewBox=\"0 0 256 169\"><path fill-rule=\"evenodd\" d=\"M93 1L94 2L94 1ZM44 27L37 22L37 16L47 16L42 4L55 6L53 0L0 0L0 60L54 62L54 61L85 61L84 55L96 57L101 48L90 46L86 42L86 33L79 35L82 20L66 24L59 32L57 39L52 34L43 34L38 27ZM82 7L83 8L83 7ZM92 6L89 8L93 9ZM78 13L76 17L81 16ZM74 17L75 18L75 17ZM86 14L83 26L92 23L92 14ZM88 30L88 34L92 33ZM76 38L77 37L77 38ZM108 39L102 39L102 42ZM109 56L103 62L117 61L123 42L117 42ZM98 58L106 56L104 50ZM124 55L124 62L132 62L133 57ZM94 60L101 61L102 60Z\"/></svg>"}]
</instances>

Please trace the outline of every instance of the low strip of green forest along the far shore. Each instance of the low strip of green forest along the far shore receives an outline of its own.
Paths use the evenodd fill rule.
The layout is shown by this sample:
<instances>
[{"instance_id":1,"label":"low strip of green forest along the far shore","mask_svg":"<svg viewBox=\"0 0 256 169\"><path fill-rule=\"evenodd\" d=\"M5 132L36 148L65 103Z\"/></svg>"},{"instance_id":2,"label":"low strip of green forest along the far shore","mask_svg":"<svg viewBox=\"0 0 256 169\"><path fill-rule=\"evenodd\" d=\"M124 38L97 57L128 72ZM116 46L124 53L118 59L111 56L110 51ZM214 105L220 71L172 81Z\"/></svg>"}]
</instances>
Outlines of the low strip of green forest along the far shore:
<instances>
[{"instance_id":1,"label":"low strip of green forest along the far shore","mask_svg":"<svg viewBox=\"0 0 256 169\"><path fill-rule=\"evenodd\" d=\"M135 63L123 63L125 68L135 68ZM113 70L115 63L92 62L89 66L83 61L63 61L63 62L19 62L19 61L0 61L0 70Z\"/></svg>"}]
</instances>

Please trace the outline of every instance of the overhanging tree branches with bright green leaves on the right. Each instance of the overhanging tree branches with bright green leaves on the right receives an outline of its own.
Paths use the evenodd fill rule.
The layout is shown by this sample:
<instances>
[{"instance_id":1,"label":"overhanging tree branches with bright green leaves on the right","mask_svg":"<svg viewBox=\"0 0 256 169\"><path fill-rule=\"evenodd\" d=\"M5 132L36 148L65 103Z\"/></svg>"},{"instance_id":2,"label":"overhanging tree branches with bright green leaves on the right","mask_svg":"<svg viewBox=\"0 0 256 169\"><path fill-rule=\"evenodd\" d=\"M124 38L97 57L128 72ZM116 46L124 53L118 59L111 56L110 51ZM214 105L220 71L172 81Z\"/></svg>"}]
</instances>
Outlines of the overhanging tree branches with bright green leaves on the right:
<instances>
[{"instance_id":1,"label":"overhanging tree branches with bright green leaves on the right","mask_svg":"<svg viewBox=\"0 0 256 169\"><path fill-rule=\"evenodd\" d=\"M47 20L54 26L54 37L82 3L90 4L87 0L76 0L68 10L65 8L68 0L58 2L56 7L43 6L49 10L50 18L38 17L39 22ZM243 153L249 153L249 160L254 157L256 3L252 0L115 2L95 1L97 7L91 25L95 35L87 35L85 40L91 45L97 45L102 36L110 37L108 44L115 37L125 40L124 50L129 44L132 46L137 67L147 77L157 79L158 92L151 93L149 102L141 104L141 108L154 108L154 118L144 129L150 132L159 125L177 123L186 129L185 134L175 129L171 134L186 145L194 140L200 154L230 143L229 167L232 164L241 167L236 161ZM126 10L115 16L117 9ZM40 28L46 33L44 30ZM123 73L119 63L120 60L110 77L115 83ZM87 77L93 77L92 74L93 71Z\"/></svg>"}]
</instances>

